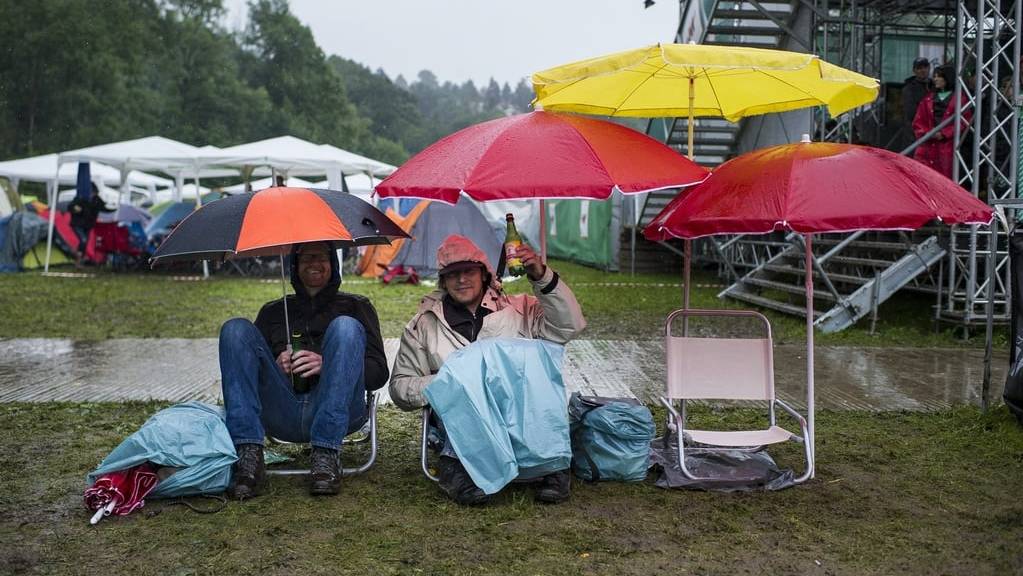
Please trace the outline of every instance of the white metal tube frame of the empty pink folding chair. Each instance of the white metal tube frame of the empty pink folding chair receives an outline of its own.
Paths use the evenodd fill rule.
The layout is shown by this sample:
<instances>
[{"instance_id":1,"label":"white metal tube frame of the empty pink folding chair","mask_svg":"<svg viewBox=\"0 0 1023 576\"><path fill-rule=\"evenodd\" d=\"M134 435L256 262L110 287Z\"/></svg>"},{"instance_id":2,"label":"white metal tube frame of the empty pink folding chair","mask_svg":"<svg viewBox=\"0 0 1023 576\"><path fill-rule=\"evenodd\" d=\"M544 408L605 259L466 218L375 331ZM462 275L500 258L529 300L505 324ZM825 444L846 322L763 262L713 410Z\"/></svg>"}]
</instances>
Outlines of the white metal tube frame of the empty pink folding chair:
<instances>
[{"instance_id":1,"label":"white metal tube frame of the empty pink folding chair","mask_svg":"<svg viewBox=\"0 0 1023 576\"><path fill-rule=\"evenodd\" d=\"M770 370L770 373L767 376L768 378L768 382L766 383L766 386L765 386L766 392L764 393L764 397L760 398L760 397L753 396L753 397L750 397L748 399L766 400L768 402L768 419L769 419L769 426L771 428L774 428L774 427L777 426L776 425L776 419L775 419L775 409L774 409L775 406L781 407L785 412L787 412L793 419L795 419L799 424L800 430L802 432L801 436L800 435L795 435L795 434L793 434L793 433L791 433L791 432L789 432L787 430L784 430L784 429L783 430L784 430L784 432L788 432L789 433L789 435L790 435L789 440L793 440L793 441L799 442L799 443L801 443L803 445L803 451L804 451L804 455L806 457L806 470L805 470L805 472L801 476L799 476L798 478L794 479L794 482L796 484L801 484L801 483L805 482L806 480L808 480L811 477L811 475L813 474L814 466L813 466L813 452L812 452L812 449L810 447L811 444L810 444L810 441L809 441L810 434L809 434L808 427L807 427L807 420L806 420L806 418L802 414L800 414L799 412L797 412L791 406L789 406L788 404L786 404L782 400L779 400L777 398L774 397L773 360L772 360L773 351L772 351L772 348L771 348L771 346L772 346L772 339L771 339L770 321L763 314L760 314L759 312L754 312L752 310L698 310L698 309L680 309L680 310L675 310L674 312L672 312L671 314L669 314L668 317L667 317L667 319L665 320L665 328L664 328L665 329L665 356L666 356L666 362L668 364L668 372L669 372L668 373L668 379L669 379L669 382L667 383L667 386L665 387L665 396L662 396L660 398L660 400L661 400L661 403L668 409L668 418L667 418L668 422L666 423L667 424L667 432L665 433L665 442L667 443L667 440L669 439L670 434L671 434L671 430L674 430L676 432L676 434L677 434L677 437L678 437L677 456L678 456L678 464L679 464L679 468L682 471L682 474L686 478L688 478L691 480L715 480L714 478L698 477L695 474L693 474L688 470L688 468L685 466L685 446L684 445L685 445L686 442L691 442L691 443L693 442L690 434L687 434L685 432L685 401L686 401L687 398L690 398L690 396L683 394L682 396L673 397L672 396L672 391L671 391L671 382L670 382L670 379L672 378L672 375L671 375L671 372L672 372L672 367L671 367L671 362L672 362L671 340L673 338L675 338L671 334L671 324L672 324L672 322L676 318L681 317L682 318L682 322L683 322L683 324L682 324L682 333L683 333L683 338L685 338L685 337L687 337L687 333L688 333L688 318L693 317L693 316L702 316L702 317L747 317L747 318L756 318L756 319L759 319L760 321L763 322L766 337L764 339L762 339L762 340L766 341L766 349L769 351L768 354L770 355L770 357L768 358L767 366L766 366L767 369ZM722 339L722 340L727 340L727 339ZM700 397L713 398L713 396L700 396ZM731 398L731 397L728 396L728 395L723 395L720 398ZM740 397L737 397L737 398L740 398ZM678 409L676 409L675 406L674 406L674 402L673 402L674 400L678 400L678 402L679 402L679 408ZM779 440L779 439L769 440L770 443L776 443L776 442L782 442L782 441L784 441L784 440ZM723 451L723 450L757 451L757 450L762 449L763 446L765 445L765 444L761 444L759 446L731 446L731 445L726 445L726 444L725 445L722 445L722 444L714 445L714 444L708 444L708 443L705 443L705 442L701 442L700 444L701 444L701 448L700 448L701 450L709 450L709 451ZM667 444L666 444L666 447L667 447Z\"/></svg>"}]
</instances>

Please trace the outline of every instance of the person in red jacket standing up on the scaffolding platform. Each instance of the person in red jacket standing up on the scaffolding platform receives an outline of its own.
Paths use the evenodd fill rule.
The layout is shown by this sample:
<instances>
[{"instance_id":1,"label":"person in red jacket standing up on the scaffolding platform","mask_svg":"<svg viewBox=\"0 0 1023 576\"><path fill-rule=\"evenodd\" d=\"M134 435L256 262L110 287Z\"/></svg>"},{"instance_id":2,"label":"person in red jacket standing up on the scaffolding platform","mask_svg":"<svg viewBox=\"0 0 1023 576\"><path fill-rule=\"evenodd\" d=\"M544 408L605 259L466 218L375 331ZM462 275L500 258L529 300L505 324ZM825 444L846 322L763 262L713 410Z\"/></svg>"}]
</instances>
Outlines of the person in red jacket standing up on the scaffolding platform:
<instances>
[{"instance_id":1,"label":"person in red jacket standing up on the scaffolding platform","mask_svg":"<svg viewBox=\"0 0 1023 576\"><path fill-rule=\"evenodd\" d=\"M955 114L953 96L955 94L955 73L951 67L939 67L934 71L934 91L930 92L917 106L917 116L913 119L913 132L920 139L932 128L946 118ZM968 100L965 94L960 95L963 109L960 120L960 137L970 128L973 109L967 108ZM951 122L928 141L917 147L914 158L934 170L952 177L952 158L955 139L955 123Z\"/></svg>"}]
</instances>

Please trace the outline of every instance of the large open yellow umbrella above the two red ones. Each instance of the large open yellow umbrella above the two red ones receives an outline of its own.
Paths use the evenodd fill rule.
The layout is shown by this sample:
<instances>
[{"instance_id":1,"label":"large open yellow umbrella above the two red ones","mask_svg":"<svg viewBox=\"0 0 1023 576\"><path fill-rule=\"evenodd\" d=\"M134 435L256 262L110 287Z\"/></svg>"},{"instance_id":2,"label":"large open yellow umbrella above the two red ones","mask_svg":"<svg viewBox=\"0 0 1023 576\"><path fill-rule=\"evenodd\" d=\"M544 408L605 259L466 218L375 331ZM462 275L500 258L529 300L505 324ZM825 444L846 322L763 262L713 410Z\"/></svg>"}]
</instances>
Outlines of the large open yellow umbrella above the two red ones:
<instances>
[{"instance_id":1,"label":"large open yellow umbrella above the two red ones","mask_svg":"<svg viewBox=\"0 0 1023 576\"><path fill-rule=\"evenodd\" d=\"M553 112L638 118L748 116L828 106L838 116L874 101L878 81L813 54L658 44L533 75L536 104ZM538 106L538 107L539 107Z\"/></svg>"}]
</instances>

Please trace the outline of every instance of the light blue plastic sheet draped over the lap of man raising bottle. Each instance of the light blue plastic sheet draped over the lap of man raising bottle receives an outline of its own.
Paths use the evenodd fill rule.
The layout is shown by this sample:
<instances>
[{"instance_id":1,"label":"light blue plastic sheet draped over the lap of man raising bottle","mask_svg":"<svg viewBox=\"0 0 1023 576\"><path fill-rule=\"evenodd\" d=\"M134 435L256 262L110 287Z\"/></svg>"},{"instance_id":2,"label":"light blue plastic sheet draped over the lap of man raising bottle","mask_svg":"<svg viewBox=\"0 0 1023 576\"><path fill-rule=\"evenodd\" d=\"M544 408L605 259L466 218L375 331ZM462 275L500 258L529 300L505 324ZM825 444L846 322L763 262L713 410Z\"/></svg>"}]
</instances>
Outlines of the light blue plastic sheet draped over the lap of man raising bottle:
<instances>
[{"instance_id":1,"label":"light blue plastic sheet draped over the lap of man raising bottle","mask_svg":"<svg viewBox=\"0 0 1023 576\"><path fill-rule=\"evenodd\" d=\"M484 492L566 470L572 460L564 347L486 339L448 356L425 394Z\"/></svg>"}]
</instances>

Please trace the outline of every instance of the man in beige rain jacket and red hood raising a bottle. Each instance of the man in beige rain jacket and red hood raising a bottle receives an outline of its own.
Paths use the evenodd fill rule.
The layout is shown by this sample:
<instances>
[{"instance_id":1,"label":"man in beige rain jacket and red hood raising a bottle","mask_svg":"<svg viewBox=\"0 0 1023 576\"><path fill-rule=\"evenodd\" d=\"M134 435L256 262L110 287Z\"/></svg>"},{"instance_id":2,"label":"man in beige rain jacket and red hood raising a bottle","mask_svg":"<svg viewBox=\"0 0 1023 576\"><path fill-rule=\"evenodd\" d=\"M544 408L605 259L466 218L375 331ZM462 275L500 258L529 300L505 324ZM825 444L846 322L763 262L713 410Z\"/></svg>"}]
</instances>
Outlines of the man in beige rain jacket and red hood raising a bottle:
<instances>
[{"instance_id":1,"label":"man in beige rain jacket and red hood raising a bottle","mask_svg":"<svg viewBox=\"0 0 1023 576\"><path fill-rule=\"evenodd\" d=\"M472 240L457 234L444 240L437 251L439 287L422 299L401 337L390 386L398 407L425 406L422 391L448 355L479 339L536 338L565 344L586 326L575 295L558 272L526 245L514 256L522 260L535 296L505 295L489 259ZM564 501L569 497L570 480L567 470L544 477L537 499ZM440 485L459 503L488 499L449 447L441 453Z\"/></svg>"}]
</instances>

